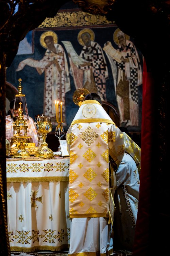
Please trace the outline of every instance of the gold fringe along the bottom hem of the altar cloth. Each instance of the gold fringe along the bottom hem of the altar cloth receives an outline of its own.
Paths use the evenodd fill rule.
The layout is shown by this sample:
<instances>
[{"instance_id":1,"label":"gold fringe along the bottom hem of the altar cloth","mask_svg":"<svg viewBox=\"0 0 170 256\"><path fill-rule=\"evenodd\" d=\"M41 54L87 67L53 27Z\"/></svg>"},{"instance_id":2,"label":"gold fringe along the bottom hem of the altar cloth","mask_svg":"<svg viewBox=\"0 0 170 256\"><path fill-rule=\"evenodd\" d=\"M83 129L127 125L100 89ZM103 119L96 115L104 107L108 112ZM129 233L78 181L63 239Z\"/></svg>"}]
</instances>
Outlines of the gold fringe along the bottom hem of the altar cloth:
<instances>
[{"instance_id":1,"label":"gold fringe along the bottom hem of the altar cloth","mask_svg":"<svg viewBox=\"0 0 170 256\"><path fill-rule=\"evenodd\" d=\"M34 246L32 248L24 248L24 247L19 247L19 246L11 246L11 252L24 252L24 253L30 253L30 252L35 252L35 251L53 251L53 252L58 252L63 249L69 249L70 244L62 244L61 246L53 247L53 246Z\"/></svg>"}]
</instances>

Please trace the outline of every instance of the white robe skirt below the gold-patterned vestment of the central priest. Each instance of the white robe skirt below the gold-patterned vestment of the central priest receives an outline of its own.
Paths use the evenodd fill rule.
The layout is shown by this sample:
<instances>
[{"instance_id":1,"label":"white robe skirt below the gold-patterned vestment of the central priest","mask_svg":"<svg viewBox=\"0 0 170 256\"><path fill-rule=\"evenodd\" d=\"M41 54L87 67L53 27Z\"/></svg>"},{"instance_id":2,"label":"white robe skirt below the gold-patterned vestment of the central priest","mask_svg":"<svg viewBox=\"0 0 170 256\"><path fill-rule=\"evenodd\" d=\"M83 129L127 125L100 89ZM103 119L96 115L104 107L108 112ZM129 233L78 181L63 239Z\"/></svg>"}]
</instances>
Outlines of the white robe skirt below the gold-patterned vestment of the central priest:
<instances>
[{"instance_id":1,"label":"white robe skirt below the gold-patterned vestment of the central priest","mask_svg":"<svg viewBox=\"0 0 170 256\"><path fill-rule=\"evenodd\" d=\"M68 255L112 253L111 224L104 217L72 218L70 224L70 248Z\"/></svg>"}]
</instances>

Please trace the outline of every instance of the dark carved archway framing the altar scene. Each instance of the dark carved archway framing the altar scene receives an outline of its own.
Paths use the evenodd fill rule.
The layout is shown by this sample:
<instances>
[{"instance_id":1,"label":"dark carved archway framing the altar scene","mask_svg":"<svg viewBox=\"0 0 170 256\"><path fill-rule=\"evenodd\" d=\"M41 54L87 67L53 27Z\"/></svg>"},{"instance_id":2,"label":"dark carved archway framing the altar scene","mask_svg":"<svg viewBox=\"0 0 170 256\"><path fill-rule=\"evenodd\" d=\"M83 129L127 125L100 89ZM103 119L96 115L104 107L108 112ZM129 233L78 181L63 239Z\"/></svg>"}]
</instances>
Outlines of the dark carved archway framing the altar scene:
<instances>
[{"instance_id":1,"label":"dark carved archway framing the altar scene","mask_svg":"<svg viewBox=\"0 0 170 256\"><path fill-rule=\"evenodd\" d=\"M11 65L19 42L46 17L54 17L68 1L0 1L0 250L10 255L6 222L5 162L5 67ZM86 12L106 15L120 29L134 37L146 60L142 116L142 158L139 218L134 255L168 252L168 102L170 82L170 1L164 0L74 0ZM18 11L15 12L18 3ZM148 82L149 81L149 82ZM147 106L150 106L147 109ZM149 113L149 115L146 115ZM156 160L155 160L156 159ZM147 179L147 180L146 180ZM144 201L143 201L144 200ZM142 215L146 218L142 218ZM152 242L153 240L153 242ZM155 246L156 245L156 246Z\"/></svg>"}]
</instances>

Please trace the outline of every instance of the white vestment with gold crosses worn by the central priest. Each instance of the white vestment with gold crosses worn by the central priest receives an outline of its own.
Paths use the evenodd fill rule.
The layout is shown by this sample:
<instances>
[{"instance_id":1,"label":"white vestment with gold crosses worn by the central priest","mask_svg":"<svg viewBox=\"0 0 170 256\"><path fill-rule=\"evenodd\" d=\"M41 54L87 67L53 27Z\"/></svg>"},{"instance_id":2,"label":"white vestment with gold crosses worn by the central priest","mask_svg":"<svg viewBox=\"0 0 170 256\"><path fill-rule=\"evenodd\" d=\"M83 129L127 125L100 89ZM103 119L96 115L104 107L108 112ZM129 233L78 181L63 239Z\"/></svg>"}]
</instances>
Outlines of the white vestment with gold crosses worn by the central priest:
<instances>
[{"instance_id":1,"label":"white vestment with gold crosses worn by the central priest","mask_svg":"<svg viewBox=\"0 0 170 256\"><path fill-rule=\"evenodd\" d=\"M121 162L124 139L100 103L83 101L67 132L70 218L108 217L109 155Z\"/></svg>"}]
</instances>

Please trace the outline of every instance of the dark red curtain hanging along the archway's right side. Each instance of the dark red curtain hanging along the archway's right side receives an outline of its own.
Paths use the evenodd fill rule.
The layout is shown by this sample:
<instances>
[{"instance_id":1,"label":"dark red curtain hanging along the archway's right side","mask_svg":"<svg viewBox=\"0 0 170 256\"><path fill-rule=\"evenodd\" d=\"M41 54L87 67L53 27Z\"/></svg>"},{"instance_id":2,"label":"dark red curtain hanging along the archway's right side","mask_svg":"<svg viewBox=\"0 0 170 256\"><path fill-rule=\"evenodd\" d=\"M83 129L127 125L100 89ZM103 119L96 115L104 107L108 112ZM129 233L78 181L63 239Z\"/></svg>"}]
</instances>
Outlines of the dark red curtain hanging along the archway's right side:
<instances>
[{"instance_id":1,"label":"dark red curtain hanging along the archway's right side","mask_svg":"<svg viewBox=\"0 0 170 256\"><path fill-rule=\"evenodd\" d=\"M150 72L147 72L145 59L143 61L142 82L142 128L141 128L141 173L139 189L139 205L133 256L148 255L150 247L150 217L151 217L151 148L152 126L154 124L153 92L154 82Z\"/></svg>"}]
</instances>

